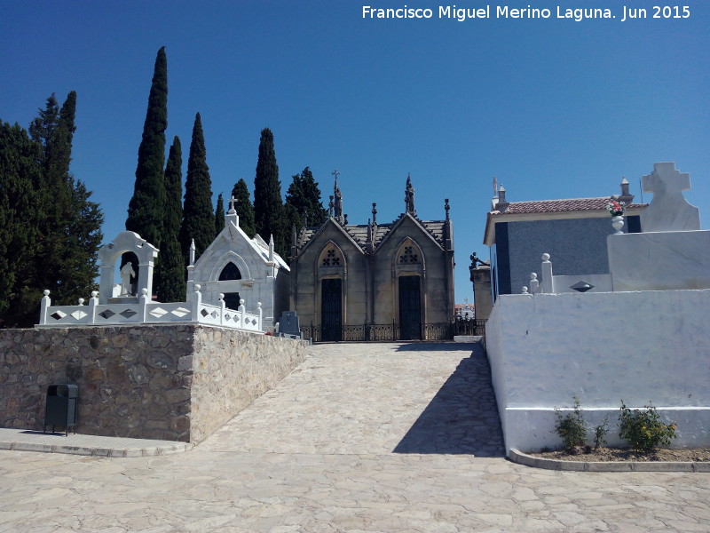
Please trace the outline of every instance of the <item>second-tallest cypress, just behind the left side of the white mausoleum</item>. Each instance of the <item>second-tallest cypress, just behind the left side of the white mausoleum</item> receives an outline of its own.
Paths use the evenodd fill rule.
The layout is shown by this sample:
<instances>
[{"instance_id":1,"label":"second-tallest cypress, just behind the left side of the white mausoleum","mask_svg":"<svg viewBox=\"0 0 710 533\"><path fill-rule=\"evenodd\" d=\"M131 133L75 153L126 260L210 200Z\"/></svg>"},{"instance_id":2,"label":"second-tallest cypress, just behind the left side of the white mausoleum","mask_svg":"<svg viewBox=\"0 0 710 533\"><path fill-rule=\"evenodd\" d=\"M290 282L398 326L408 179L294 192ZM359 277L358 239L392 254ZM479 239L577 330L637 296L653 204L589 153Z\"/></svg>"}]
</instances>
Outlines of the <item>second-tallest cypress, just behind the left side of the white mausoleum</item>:
<instances>
[{"instance_id":1,"label":"second-tallest cypress, just behind the left side of the white mausoleum","mask_svg":"<svg viewBox=\"0 0 710 533\"><path fill-rule=\"evenodd\" d=\"M190 254L190 243L194 239L195 259L199 258L215 237L215 213L212 211L212 181L205 153L205 139L202 134L200 114L195 115L193 140L187 160L185 179L185 204L180 245L183 256Z\"/></svg>"}]
</instances>

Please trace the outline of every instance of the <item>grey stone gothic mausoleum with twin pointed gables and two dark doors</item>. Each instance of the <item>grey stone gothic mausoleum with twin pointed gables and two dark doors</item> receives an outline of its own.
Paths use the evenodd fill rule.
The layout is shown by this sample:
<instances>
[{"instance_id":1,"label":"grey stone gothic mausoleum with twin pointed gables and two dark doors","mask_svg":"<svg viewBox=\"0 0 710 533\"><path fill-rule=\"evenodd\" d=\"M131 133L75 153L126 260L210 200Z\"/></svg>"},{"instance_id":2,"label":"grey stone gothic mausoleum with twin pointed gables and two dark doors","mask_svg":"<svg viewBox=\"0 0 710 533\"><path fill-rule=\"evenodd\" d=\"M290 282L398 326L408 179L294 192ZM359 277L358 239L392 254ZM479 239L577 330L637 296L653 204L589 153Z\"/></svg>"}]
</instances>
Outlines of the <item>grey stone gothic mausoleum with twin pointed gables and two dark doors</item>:
<instances>
[{"instance_id":1,"label":"grey stone gothic mausoleum with twin pointed gables and two dark doors","mask_svg":"<svg viewBox=\"0 0 710 533\"><path fill-rule=\"evenodd\" d=\"M406 179L405 212L349 224L335 172L329 217L294 230L291 309L314 341L450 338L454 318L454 234L444 220L422 220Z\"/></svg>"}]
</instances>

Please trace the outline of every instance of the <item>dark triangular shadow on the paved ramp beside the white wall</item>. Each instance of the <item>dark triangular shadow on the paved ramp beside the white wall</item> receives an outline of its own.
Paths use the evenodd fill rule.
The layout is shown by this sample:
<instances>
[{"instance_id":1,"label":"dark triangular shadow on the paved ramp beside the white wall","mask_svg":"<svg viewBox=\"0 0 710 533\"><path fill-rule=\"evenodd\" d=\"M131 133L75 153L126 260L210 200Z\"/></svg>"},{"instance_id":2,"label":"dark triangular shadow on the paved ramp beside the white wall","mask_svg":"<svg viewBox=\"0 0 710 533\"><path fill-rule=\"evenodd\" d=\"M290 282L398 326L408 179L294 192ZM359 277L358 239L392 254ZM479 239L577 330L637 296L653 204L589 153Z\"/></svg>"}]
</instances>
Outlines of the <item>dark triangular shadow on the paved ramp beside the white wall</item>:
<instances>
[{"instance_id":1,"label":"dark triangular shadow on the paved ramp beside the white wall","mask_svg":"<svg viewBox=\"0 0 710 533\"><path fill-rule=\"evenodd\" d=\"M480 345L462 346L473 346L473 353L461 360L393 453L505 456L488 360Z\"/></svg>"}]
</instances>

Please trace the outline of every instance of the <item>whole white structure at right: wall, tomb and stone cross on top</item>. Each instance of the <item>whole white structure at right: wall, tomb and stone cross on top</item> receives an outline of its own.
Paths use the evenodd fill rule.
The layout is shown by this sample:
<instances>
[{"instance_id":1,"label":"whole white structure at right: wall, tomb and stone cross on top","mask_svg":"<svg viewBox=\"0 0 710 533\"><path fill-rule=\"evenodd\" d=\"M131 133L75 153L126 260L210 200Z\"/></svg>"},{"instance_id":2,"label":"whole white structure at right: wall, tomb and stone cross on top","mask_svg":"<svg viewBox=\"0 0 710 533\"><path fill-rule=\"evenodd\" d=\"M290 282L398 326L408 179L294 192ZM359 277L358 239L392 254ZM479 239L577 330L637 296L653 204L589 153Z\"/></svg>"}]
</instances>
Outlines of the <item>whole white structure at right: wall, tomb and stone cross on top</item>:
<instances>
[{"instance_id":1,"label":"whole white structure at right: wall, tomb and stone cross on top","mask_svg":"<svg viewBox=\"0 0 710 533\"><path fill-rule=\"evenodd\" d=\"M507 448L558 446L555 408L573 396L590 425L609 421L611 445L623 444L621 399L677 422L672 447L710 444L710 231L674 163L656 163L643 187L643 233L607 237L610 274L554 275L544 254L541 282L533 273L493 306L485 344Z\"/></svg>"}]
</instances>

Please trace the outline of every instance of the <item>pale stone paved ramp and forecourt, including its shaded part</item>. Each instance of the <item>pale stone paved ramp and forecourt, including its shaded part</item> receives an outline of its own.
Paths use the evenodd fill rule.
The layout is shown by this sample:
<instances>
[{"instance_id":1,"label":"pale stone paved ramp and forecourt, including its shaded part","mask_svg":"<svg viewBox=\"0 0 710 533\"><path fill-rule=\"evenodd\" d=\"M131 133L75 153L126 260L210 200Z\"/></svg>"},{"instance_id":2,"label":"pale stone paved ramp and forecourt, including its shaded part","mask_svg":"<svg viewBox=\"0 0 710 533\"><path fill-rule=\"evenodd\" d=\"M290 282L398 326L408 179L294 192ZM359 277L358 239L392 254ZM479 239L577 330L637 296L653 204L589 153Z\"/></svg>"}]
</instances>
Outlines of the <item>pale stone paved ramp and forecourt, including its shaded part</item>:
<instances>
[{"instance_id":1,"label":"pale stone paved ramp and forecourt, including its shaded part","mask_svg":"<svg viewBox=\"0 0 710 533\"><path fill-rule=\"evenodd\" d=\"M314 346L184 454L0 451L0 531L710 529L710 474L563 473L495 457L485 360L455 348Z\"/></svg>"}]
</instances>

